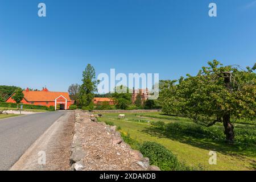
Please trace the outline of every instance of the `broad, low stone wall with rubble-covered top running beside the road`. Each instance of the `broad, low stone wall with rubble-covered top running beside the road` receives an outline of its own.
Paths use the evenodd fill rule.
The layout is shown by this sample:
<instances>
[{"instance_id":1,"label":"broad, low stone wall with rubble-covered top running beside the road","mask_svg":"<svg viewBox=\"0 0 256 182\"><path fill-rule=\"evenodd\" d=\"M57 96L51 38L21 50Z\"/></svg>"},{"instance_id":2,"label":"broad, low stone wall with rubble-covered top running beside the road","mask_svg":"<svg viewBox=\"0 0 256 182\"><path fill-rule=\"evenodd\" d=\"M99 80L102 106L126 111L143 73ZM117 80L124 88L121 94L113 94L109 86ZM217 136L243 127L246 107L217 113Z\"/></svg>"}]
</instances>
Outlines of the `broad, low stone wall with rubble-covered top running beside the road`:
<instances>
[{"instance_id":1,"label":"broad, low stone wall with rubble-covered top running beside the road","mask_svg":"<svg viewBox=\"0 0 256 182\"><path fill-rule=\"evenodd\" d=\"M137 151L137 150L133 150L129 144L125 143L121 137L121 134L116 130L116 126L109 126L106 125L106 123L104 122L98 122L97 118L94 117L94 115L91 113L91 115L86 113L86 117L82 117L82 115L84 115L84 113L80 110L76 110L76 115L75 115L75 127L73 130L73 140L72 140L72 153L71 153L71 158L70 158L70 164L71 164L71 170L74 171L81 171L81 170L86 170L88 169L88 167L86 168L86 164L85 161L87 161L88 159L86 158L90 158L90 156L88 156L88 153L90 153L89 151L84 151L82 144L84 139L82 138L82 135L84 136L84 133L82 133L83 131L85 131L86 127L89 127L88 125L90 125L90 127L92 127L92 125L94 126L92 131L94 131L94 128L100 128L101 131L105 132L105 136L104 138L109 138L108 140L105 141L105 143L108 144L112 147L112 150L114 151L113 153L118 154L120 157L122 155L122 159L125 158L125 160L130 160L130 165L133 167L130 167L132 170L148 170L148 171L156 171L156 170L160 170L158 167L156 166L150 166L150 161L148 158L144 158L143 155L141 154L141 152ZM83 123L84 122L84 123ZM85 123L87 123L87 125L84 125ZM95 129L97 130L97 129ZM97 135L97 131L95 131L95 134L92 134L90 132L90 135L96 136ZM88 137L86 138L88 139ZM97 142L97 141L87 141L87 142ZM98 142L101 142L100 140ZM95 145L98 144L94 143ZM116 147L115 147L116 146ZM100 150L102 151L102 148L104 150L104 142L102 142L102 146L100 146L98 148L99 152ZM118 148L125 148L125 150L122 151L118 151ZM125 151L125 153L122 153L123 151ZM87 154L87 155L86 155ZM97 152L96 152L97 154ZM109 156L109 158L116 158L117 156ZM84 161L84 162L83 162ZM101 162L102 164L104 164L104 162ZM98 164L94 164L94 165L101 165L101 163ZM88 164L89 165L89 164ZM109 164L109 166L111 166L112 163ZM113 164L114 166L117 165L125 165L122 163L115 163ZM122 166L120 167L122 169ZM90 168L89 168L90 169ZM93 169L93 167L92 167ZM105 168L106 169L106 168ZM108 169L108 168L107 168ZM110 168L111 169L111 168ZM118 168L117 168L118 169Z\"/></svg>"}]
</instances>

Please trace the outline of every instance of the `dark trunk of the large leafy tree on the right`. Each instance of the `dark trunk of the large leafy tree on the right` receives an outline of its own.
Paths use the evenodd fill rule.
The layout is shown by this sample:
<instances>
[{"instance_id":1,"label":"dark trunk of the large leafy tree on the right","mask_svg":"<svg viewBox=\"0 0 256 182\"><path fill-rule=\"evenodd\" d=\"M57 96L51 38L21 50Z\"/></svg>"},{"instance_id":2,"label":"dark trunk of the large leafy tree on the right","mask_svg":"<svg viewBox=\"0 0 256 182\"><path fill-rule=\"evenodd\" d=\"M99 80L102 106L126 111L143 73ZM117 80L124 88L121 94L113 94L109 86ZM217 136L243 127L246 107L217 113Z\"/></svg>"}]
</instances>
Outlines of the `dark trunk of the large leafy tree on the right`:
<instances>
[{"instance_id":1,"label":"dark trunk of the large leafy tree on the right","mask_svg":"<svg viewBox=\"0 0 256 182\"><path fill-rule=\"evenodd\" d=\"M223 116L223 125L225 128L224 134L226 135L226 141L229 143L234 142L234 126L230 123L230 114Z\"/></svg>"}]
</instances>

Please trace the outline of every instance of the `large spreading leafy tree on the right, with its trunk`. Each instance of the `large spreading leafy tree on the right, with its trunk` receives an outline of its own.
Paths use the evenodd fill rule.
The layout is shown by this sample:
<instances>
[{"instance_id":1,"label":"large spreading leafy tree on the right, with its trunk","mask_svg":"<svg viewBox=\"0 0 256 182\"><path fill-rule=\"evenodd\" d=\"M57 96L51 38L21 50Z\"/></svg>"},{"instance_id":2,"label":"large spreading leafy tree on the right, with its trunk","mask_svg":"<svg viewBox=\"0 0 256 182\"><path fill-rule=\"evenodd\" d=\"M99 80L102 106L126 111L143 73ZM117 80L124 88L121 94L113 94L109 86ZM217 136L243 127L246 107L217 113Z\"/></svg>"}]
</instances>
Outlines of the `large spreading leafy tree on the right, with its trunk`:
<instances>
[{"instance_id":1,"label":"large spreading leafy tree on the right, with its trunk","mask_svg":"<svg viewBox=\"0 0 256 182\"><path fill-rule=\"evenodd\" d=\"M183 115L196 123L224 125L226 140L233 142L236 119L255 119L256 74L249 67L223 66L208 62L197 76L181 77L179 84L169 81L160 88L163 112Z\"/></svg>"}]
</instances>

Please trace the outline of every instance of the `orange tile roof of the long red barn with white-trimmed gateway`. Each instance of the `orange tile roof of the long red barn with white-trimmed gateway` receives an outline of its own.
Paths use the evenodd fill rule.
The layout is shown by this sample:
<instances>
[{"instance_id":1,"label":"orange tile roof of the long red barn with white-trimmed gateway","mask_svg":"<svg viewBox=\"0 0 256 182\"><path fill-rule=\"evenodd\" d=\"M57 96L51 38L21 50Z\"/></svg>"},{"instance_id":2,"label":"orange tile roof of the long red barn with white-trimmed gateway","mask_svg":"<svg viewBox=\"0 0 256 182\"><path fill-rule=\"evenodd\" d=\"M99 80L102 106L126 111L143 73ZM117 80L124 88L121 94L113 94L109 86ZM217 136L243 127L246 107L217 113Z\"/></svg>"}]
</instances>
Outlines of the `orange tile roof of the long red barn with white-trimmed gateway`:
<instances>
[{"instance_id":1,"label":"orange tile roof of the long red barn with white-trimmed gateway","mask_svg":"<svg viewBox=\"0 0 256 182\"><path fill-rule=\"evenodd\" d=\"M47 92L47 91L23 91L24 98L29 102L55 101L55 98L63 96L71 101L68 92Z\"/></svg>"}]
</instances>

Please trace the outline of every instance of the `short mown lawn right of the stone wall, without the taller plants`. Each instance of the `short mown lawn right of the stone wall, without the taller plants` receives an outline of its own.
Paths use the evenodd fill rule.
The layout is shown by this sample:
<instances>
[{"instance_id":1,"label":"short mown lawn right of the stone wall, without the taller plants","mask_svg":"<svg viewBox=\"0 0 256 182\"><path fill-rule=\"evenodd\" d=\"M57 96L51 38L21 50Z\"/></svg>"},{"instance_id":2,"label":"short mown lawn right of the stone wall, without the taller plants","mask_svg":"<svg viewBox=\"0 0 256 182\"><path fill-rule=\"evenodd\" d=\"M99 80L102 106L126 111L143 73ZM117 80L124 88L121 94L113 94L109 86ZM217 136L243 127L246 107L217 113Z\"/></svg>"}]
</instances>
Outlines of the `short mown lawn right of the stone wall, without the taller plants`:
<instances>
[{"instance_id":1,"label":"short mown lawn right of the stone wall, without the taller plants","mask_svg":"<svg viewBox=\"0 0 256 182\"><path fill-rule=\"evenodd\" d=\"M129 133L130 137L139 143L152 141L162 144L188 166L200 167L204 170L256 169L255 145L240 146L240 144L234 144L230 146L220 140L216 141L201 136L197 137L193 133L189 134L183 131L166 133L148 123L148 121L163 121L165 123L178 122L183 123L183 125L195 124L187 118L160 115L160 113L125 113L126 118L120 120L118 119L119 114L105 113L105 116L99 118L99 120L103 122L112 121L114 125L121 127L122 132ZM246 123L246 125L243 123ZM250 123L250 125L247 122L237 122L235 131L236 129L255 131L255 126L255 122ZM222 129L221 125L212 127L213 129ZM208 163L210 150L217 152L217 165L210 165Z\"/></svg>"}]
</instances>

